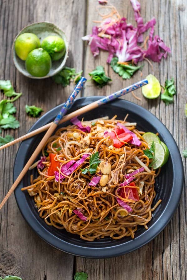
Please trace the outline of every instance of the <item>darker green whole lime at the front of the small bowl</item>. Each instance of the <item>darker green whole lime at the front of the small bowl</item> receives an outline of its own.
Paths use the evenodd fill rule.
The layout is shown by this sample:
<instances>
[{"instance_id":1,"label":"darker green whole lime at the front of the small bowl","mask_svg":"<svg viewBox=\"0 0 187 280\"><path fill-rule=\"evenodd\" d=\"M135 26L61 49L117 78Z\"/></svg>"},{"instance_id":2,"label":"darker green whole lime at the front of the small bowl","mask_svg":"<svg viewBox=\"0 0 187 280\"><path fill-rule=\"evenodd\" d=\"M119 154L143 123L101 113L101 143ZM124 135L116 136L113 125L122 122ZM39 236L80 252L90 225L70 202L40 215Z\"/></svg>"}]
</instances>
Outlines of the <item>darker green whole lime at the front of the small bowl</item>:
<instances>
[{"instance_id":1,"label":"darker green whole lime at the front of the small bowl","mask_svg":"<svg viewBox=\"0 0 187 280\"><path fill-rule=\"evenodd\" d=\"M51 68L50 55L42 48L34 49L28 54L25 66L32 76L44 77Z\"/></svg>"}]
</instances>

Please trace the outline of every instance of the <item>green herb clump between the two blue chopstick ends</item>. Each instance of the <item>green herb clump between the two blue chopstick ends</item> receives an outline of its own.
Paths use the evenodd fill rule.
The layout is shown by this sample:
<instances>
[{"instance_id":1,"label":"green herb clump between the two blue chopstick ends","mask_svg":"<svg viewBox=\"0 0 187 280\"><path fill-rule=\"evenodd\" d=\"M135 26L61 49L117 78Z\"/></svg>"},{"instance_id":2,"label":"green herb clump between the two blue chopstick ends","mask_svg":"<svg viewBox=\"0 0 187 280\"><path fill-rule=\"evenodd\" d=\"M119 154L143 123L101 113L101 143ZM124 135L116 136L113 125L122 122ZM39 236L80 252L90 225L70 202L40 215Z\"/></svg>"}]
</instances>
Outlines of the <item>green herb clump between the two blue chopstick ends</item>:
<instances>
[{"instance_id":1,"label":"green herb clump between the two blue chopstick ends","mask_svg":"<svg viewBox=\"0 0 187 280\"><path fill-rule=\"evenodd\" d=\"M91 79L96 82L99 87L105 86L108 82L112 81L110 77L107 77L104 72L103 66L97 66L95 70L89 73Z\"/></svg>"}]
</instances>

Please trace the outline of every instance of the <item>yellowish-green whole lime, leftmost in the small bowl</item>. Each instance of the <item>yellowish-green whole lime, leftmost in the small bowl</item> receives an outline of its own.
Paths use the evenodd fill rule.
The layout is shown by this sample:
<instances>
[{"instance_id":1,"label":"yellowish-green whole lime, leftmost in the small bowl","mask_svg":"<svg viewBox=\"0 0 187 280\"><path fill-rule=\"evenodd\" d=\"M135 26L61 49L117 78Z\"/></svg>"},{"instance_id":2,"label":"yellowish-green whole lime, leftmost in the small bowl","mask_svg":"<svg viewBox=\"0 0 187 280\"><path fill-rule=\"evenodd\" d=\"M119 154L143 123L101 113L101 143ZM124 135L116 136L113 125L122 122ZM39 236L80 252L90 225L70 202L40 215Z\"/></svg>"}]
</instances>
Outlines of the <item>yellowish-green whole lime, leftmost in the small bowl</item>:
<instances>
[{"instance_id":1,"label":"yellowish-green whole lime, leftmost in the small bowl","mask_svg":"<svg viewBox=\"0 0 187 280\"><path fill-rule=\"evenodd\" d=\"M15 52L19 58L26 60L27 55L33 50L40 48L40 40L33 33L23 33L15 41Z\"/></svg>"}]
</instances>

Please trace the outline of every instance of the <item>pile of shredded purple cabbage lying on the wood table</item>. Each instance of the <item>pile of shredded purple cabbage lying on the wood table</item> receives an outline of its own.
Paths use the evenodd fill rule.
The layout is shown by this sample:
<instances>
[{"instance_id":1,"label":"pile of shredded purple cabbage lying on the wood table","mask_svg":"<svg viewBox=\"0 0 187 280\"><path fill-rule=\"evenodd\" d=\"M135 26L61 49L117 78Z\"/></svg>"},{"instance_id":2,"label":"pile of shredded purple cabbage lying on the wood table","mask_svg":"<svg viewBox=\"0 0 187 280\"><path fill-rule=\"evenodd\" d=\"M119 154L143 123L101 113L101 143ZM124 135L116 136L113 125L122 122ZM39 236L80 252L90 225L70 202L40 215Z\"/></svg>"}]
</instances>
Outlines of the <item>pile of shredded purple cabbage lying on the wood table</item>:
<instances>
[{"instance_id":1,"label":"pile of shredded purple cabbage lying on the wood table","mask_svg":"<svg viewBox=\"0 0 187 280\"><path fill-rule=\"evenodd\" d=\"M98 55L100 49L103 49L108 51L108 63L113 56L117 56L120 62L133 59L134 63L142 61L145 57L155 62L160 62L162 57L167 58L167 54L171 52L170 48L158 35L153 38L156 19L153 17L144 23L140 14L140 3L137 0L130 0L130 2L137 26L127 24L127 19L124 17L108 26L111 19L106 19L101 26L93 26L92 34L82 37L83 40L89 41L93 56ZM148 48L143 49L138 44L143 42L143 34L149 29ZM100 37L99 33L103 30L105 30L105 37Z\"/></svg>"}]
</instances>

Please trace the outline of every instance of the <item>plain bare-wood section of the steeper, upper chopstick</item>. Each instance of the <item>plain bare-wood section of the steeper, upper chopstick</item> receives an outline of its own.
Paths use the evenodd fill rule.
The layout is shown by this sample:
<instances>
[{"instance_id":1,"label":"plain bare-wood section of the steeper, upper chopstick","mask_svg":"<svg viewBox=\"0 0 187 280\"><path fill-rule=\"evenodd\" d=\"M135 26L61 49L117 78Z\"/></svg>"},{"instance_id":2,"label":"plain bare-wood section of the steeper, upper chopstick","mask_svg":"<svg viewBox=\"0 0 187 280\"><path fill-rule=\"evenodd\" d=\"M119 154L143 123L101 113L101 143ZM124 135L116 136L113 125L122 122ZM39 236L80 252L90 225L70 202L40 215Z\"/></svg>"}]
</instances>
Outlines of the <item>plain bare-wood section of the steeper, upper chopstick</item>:
<instances>
[{"instance_id":1,"label":"plain bare-wood section of the steeper, upper chopstick","mask_svg":"<svg viewBox=\"0 0 187 280\"><path fill-rule=\"evenodd\" d=\"M12 187L9 189L8 193L6 194L6 196L4 197L4 199L2 200L1 204L0 204L0 210L3 207L3 205L6 203L6 201L8 200L8 198L10 197L10 195L13 193L13 191L16 189L17 185L21 182L23 176L26 174L26 172L28 171L29 167L32 165L32 163L35 161L36 157L38 156L38 154L41 152L42 148L45 146L48 138L51 136L51 134L54 132L55 128L57 127L57 125L55 123L52 123L52 125L50 126L50 128L48 129L48 131L46 132L46 134L44 135L44 137L41 139L40 144L36 147L36 150L33 152L32 156L30 157L30 159L27 161L26 165L24 166L23 170L21 171L20 175L17 177L17 179L15 180L15 182L13 183Z\"/></svg>"}]
</instances>

